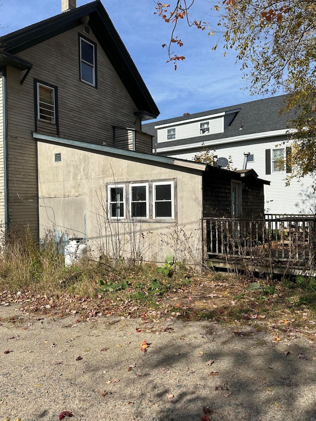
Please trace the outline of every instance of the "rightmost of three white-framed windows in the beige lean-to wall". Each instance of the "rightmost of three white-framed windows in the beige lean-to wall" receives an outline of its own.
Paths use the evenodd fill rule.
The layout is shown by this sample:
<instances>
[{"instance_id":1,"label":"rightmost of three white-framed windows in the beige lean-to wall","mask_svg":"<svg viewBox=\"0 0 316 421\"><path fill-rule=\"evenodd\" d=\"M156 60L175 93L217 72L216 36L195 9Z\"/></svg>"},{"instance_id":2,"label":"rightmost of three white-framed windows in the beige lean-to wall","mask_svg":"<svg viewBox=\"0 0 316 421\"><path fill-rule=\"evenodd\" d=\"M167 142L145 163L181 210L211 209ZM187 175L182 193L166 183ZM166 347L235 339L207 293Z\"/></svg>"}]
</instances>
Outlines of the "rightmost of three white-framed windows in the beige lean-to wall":
<instances>
[{"instance_id":1,"label":"rightmost of three white-framed windows in the beige lean-to wall","mask_svg":"<svg viewBox=\"0 0 316 421\"><path fill-rule=\"evenodd\" d=\"M154 219L174 219L174 183L153 183Z\"/></svg>"}]
</instances>

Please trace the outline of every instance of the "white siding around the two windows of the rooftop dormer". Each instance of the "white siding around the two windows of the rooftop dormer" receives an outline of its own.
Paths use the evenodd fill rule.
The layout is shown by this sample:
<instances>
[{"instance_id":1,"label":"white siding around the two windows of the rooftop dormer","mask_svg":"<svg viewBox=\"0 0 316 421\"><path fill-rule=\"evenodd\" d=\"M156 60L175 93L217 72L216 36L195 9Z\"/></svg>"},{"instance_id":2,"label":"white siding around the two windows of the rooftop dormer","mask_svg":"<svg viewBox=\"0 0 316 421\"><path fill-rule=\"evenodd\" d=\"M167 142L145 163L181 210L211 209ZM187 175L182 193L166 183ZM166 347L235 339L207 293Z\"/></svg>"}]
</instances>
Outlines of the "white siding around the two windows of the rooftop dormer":
<instances>
[{"instance_id":1,"label":"white siding around the two windows of the rooftop dormer","mask_svg":"<svg viewBox=\"0 0 316 421\"><path fill-rule=\"evenodd\" d=\"M208 123L208 132L201 133L201 124ZM174 138L169 138L171 129L174 130L174 127L161 127L158 128L158 143L166 142ZM188 139L197 136L203 136L205 134L216 134L224 132L224 117L215 117L209 120L201 119L199 121L192 121L190 123L183 123L176 126L176 139Z\"/></svg>"}]
</instances>

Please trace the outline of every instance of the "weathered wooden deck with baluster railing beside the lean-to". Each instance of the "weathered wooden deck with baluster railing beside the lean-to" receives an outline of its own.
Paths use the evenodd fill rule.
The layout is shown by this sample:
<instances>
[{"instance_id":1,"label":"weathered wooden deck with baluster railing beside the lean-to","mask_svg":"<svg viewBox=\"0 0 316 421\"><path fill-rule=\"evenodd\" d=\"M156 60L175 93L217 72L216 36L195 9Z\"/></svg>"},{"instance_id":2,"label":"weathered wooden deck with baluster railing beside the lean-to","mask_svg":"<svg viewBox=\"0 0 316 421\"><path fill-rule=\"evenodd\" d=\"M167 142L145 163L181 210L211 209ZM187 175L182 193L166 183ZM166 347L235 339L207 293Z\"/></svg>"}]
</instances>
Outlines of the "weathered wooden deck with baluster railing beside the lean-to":
<instances>
[{"instance_id":1,"label":"weathered wooden deck with baluster railing beside the lean-to","mask_svg":"<svg viewBox=\"0 0 316 421\"><path fill-rule=\"evenodd\" d=\"M316 215L203 218L203 254L215 268L316 274Z\"/></svg>"}]
</instances>

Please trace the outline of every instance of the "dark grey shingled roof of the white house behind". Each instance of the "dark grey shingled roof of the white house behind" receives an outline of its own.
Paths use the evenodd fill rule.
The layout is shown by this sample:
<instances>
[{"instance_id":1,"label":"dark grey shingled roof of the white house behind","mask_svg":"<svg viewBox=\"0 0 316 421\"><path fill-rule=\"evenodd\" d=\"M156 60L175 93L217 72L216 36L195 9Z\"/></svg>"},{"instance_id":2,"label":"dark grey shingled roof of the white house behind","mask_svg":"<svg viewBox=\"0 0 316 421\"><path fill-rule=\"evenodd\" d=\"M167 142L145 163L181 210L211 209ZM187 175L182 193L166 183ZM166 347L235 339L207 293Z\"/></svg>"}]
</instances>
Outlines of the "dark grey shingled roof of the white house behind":
<instances>
[{"instance_id":1,"label":"dark grey shingled roof of the white house behind","mask_svg":"<svg viewBox=\"0 0 316 421\"><path fill-rule=\"evenodd\" d=\"M232 105L228 107L217 108L214 110L203 111L200 113L182 115L179 117L168 118L165 120L154 121L143 125L143 131L155 136L153 143L157 143L157 126L173 123L184 124L187 120L198 119L206 116L223 115L226 119L229 115L234 115L224 132L191 137L174 141L159 142L158 149L163 147L173 147L177 145L201 144L212 140L232 139L237 137L247 137L253 134L266 132L275 132L278 135L284 135L289 129L288 120L290 114L280 114L280 109L285 104L286 95L259 99L243 104ZM156 128L155 128L156 127ZM252 137L252 136L251 136ZM220 143L220 142L219 142Z\"/></svg>"}]
</instances>

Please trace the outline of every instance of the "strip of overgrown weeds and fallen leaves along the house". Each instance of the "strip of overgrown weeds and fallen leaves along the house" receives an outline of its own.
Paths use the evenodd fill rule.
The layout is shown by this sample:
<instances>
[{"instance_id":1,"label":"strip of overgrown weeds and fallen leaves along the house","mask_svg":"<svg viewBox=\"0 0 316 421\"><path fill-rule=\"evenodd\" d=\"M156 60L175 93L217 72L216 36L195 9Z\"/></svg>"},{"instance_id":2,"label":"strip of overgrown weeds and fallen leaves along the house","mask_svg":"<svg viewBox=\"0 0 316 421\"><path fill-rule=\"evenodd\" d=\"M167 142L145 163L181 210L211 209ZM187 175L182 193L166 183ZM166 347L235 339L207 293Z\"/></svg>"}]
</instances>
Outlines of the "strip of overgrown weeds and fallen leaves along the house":
<instances>
[{"instance_id":1,"label":"strip of overgrown weeds and fallen leaves along the house","mask_svg":"<svg viewBox=\"0 0 316 421\"><path fill-rule=\"evenodd\" d=\"M0 302L19 303L26 311L142 316L144 323L162 316L211 319L288 334L310 333L316 324L314 277L263 281L212 270L196 273L173 256L158 268L88 258L65 268L62 245L51 233L40 246L29 230L10 232L3 240Z\"/></svg>"}]
</instances>

